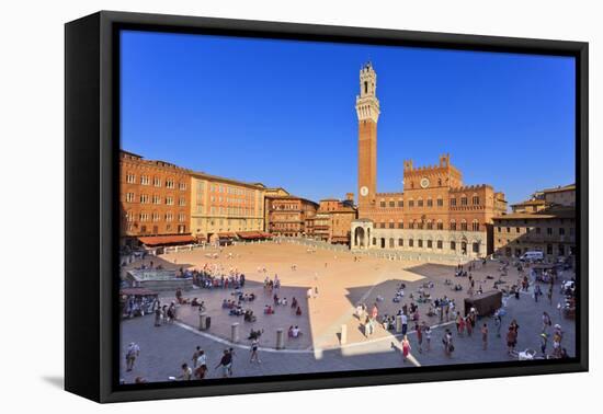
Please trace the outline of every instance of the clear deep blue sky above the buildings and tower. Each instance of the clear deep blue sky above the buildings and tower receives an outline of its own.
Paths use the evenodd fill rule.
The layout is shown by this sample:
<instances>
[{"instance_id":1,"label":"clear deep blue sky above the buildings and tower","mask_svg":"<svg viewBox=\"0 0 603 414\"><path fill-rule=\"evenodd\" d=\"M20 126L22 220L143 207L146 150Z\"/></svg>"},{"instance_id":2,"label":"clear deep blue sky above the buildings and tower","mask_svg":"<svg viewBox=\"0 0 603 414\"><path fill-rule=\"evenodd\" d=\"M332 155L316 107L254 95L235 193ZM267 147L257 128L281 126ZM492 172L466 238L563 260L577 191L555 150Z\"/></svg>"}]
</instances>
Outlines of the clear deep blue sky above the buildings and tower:
<instances>
[{"instance_id":1,"label":"clear deep blue sky above the buildings and tower","mask_svg":"<svg viewBox=\"0 0 603 414\"><path fill-rule=\"evenodd\" d=\"M440 153L511 203L574 182L568 57L124 32L122 148L318 200L356 192L359 70L377 71L379 192ZM229 154L229 157L225 157Z\"/></svg>"}]
</instances>

